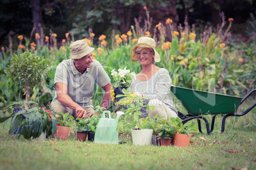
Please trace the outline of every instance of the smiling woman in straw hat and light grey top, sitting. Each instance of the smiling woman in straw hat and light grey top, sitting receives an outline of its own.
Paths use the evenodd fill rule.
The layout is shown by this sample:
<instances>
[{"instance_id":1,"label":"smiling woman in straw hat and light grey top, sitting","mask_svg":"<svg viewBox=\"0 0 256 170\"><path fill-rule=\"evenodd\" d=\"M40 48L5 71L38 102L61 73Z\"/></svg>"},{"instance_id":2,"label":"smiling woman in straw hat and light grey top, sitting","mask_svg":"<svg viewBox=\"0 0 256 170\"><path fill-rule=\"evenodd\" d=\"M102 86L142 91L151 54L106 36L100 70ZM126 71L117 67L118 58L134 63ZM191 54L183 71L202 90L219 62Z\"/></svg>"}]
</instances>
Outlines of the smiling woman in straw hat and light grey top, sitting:
<instances>
[{"instance_id":1,"label":"smiling woman in straw hat and light grey top, sitting","mask_svg":"<svg viewBox=\"0 0 256 170\"><path fill-rule=\"evenodd\" d=\"M155 50L156 43L150 37L141 37L131 49L131 61L139 62L142 71L132 79L132 93L145 97L144 104L154 106L153 110L141 108L141 117L152 119L155 115L169 120L178 117L178 112L171 99L171 79L166 69L159 68L154 62L160 62L159 53ZM113 90L112 90L113 91ZM113 93L113 92L112 92ZM112 96L112 95L111 95Z\"/></svg>"}]
</instances>

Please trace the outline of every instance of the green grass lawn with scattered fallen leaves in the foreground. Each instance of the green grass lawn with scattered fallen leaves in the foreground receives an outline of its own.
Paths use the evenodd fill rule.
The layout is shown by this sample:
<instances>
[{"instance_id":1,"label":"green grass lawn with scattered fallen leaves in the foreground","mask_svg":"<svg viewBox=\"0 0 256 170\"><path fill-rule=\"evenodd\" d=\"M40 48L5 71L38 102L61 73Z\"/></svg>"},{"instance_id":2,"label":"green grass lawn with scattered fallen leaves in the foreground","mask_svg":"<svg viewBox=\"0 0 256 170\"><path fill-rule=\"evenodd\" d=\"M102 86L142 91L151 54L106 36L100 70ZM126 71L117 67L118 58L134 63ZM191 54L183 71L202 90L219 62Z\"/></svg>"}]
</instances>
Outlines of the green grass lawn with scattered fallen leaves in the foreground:
<instances>
[{"instance_id":1,"label":"green grass lawn with scattered fallen leaves in the foreground","mask_svg":"<svg viewBox=\"0 0 256 170\"><path fill-rule=\"evenodd\" d=\"M0 124L0 169L255 169L254 120L255 108L229 117L220 134L217 116L213 133L197 132L187 148L81 142L75 135L66 141L15 139L8 122L4 128Z\"/></svg>"}]
</instances>

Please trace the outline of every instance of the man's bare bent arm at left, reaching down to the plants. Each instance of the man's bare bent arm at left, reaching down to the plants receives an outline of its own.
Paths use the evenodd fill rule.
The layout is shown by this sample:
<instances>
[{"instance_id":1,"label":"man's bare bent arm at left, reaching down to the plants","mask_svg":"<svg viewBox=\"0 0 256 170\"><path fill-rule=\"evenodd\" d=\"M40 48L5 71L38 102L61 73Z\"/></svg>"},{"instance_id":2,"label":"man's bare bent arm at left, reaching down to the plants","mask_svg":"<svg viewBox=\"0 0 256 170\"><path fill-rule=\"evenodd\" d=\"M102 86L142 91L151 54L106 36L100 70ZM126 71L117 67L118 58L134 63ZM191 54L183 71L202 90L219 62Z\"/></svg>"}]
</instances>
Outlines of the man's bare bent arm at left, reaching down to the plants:
<instances>
[{"instance_id":1,"label":"man's bare bent arm at left, reaching down to the plants","mask_svg":"<svg viewBox=\"0 0 256 170\"><path fill-rule=\"evenodd\" d=\"M62 105L65 105L66 107L76 110L77 117L85 118L87 112L80 105L78 105L78 103L75 103L67 94L68 85L61 82L57 82L55 84L55 87L57 93L57 100L60 103L62 103Z\"/></svg>"}]
</instances>

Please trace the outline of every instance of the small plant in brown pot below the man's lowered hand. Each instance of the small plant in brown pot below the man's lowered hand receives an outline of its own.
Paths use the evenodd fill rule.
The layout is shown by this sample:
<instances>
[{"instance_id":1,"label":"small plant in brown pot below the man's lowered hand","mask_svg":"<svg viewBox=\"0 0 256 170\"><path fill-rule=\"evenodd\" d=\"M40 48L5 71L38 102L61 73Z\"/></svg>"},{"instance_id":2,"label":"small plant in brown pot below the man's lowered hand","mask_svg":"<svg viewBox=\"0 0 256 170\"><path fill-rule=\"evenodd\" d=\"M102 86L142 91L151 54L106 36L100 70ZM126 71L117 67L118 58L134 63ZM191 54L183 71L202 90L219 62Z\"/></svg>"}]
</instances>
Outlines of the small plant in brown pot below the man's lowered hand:
<instances>
[{"instance_id":1,"label":"small plant in brown pot below the man's lowered hand","mask_svg":"<svg viewBox=\"0 0 256 170\"><path fill-rule=\"evenodd\" d=\"M77 126L76 140L85 141L87 137L87 128L88 128L87 123L82 118L76 118L76 121L78 121L76 122L76 126Z\"/></svg>"}]
</instances>

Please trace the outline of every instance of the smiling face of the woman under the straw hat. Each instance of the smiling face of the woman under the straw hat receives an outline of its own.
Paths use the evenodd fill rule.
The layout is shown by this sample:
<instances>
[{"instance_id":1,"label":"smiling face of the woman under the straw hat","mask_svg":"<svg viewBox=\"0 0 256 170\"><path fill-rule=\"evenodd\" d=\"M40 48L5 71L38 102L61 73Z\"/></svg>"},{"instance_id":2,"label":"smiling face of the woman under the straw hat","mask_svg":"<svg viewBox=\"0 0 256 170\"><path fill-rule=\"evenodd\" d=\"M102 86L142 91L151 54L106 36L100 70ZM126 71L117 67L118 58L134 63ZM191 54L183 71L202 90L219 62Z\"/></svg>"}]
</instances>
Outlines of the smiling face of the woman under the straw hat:
<instances>
[{"instance_id":1,"label":"smiling face of the woman under the straw hat","mask_svg":"<svg viewBox=\"0 0 256 170\"><path fill-rule=\"evenodd\" d=\"M150 48L143 48L140 51L136 51L136 56L141 65L150 65L153 61L153 51Z\"/></svg>"}]
</instances>

